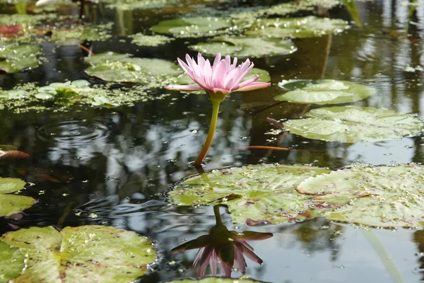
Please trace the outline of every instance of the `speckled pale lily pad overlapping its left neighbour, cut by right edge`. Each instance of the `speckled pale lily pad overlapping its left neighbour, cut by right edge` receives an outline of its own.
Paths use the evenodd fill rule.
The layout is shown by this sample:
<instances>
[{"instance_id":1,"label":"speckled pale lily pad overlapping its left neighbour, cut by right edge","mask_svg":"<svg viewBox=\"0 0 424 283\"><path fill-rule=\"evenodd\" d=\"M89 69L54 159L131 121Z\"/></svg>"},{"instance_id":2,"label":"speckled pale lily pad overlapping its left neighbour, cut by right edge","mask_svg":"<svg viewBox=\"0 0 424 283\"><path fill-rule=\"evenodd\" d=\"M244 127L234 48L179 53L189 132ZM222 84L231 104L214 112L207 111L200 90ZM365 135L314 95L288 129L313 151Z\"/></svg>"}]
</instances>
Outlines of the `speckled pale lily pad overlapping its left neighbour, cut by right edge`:
<instances>
[{"instance_id":1,"label":"speckled pale lily pad overlapping its left neighbour, cut by right edge","mask_svg":"<svg viewBox=\"0 0 424 283\"><path fill-rule=\"evenodd\" d=\"M324 217L370 226L424 226L424 167L355 166L319 175L297 190L315 202L343 207Z\"/></svg>"}]
</instances>

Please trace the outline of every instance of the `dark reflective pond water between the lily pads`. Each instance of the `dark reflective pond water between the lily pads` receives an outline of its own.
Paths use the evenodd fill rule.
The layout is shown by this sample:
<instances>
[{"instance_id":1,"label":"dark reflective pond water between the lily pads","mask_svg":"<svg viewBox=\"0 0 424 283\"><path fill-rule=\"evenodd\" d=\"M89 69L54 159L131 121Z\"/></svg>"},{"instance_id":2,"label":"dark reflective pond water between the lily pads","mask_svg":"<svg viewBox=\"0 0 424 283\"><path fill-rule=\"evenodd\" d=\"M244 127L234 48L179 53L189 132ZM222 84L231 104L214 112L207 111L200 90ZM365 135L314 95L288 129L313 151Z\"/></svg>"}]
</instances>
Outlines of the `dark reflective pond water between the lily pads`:
<instances>
[{"instance_id":1,"label":"dark reflective pond water between the lily pads","mask_svg":"<svg viewBox=\"0 0 424 283\"><path fill-rule=\"evenodd\" d=\"M0 2L2 13L16 13L15 5ZM177 38L160 47L140 47L132 44L128 35L170 18L226 15L237 8L281 3L192 0L134 10L124 10L119 4L113 8L101 1L89 4L87 22L114 23L110 39L74 45L41 42L45 59L40 67L0 74L0 86L8 90L19 83L45 86L78 79L103 85L100 79L84 73L88 64L83 57L88 52L78 44L94 54L112 51L176 62L187 52L194 56L196 52L187 46L206 39ZM356 1L361 27L343 5L290 14L340 18L352 21L351 28L337 35L294 39L298 50L292 54L252 58L255 67L269 71L271 87L231 93L221 103L216 137L204 170L258 163L312 164L332 170L355 162L422 163L424 135L342 143L290 133L265 134L275 129L267 117L294 119L322 107L274 100L283 93L278 82L290 79L336 79L372 86L377 89L374 96L348 104L424 117L424 71L420 69L424 66L424 2L411 3L416 5L412 15L408 1ZM34 13L30 5L28 13ZM60 14L74 16L79 11L69 3L57 9ZM205 95L165 88L155 88L151 96L160 99L116 108L79 105L68 111L1 110L0 144L16 146L30 157L0 160L0 175L33 183L22 194L37 200L25 209L21 219L1 219L1 232L16 226L96 224L123 228L148 236L157 249L158 260L140 282L196 279L197 268L192 266L196 251L170 250L208 233L215 224L213 207L175 206L170 204L167 192L175 183L197 173L190 164L206 139L212 106ZM223 208L220 213L230 230L273 233L272 238L249 242L264 262L259 265L247 260L246 275L252 279L326 283L424 280L424 232L420 229L364 229L322 217L248 226L232 224ZM211 275L210 270L206 275ZM232 277L240 275L232 272Z\"/></svg>"}]
</instances>

